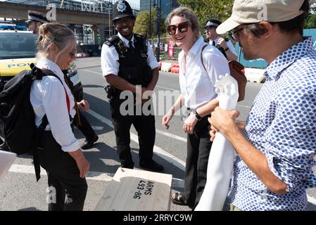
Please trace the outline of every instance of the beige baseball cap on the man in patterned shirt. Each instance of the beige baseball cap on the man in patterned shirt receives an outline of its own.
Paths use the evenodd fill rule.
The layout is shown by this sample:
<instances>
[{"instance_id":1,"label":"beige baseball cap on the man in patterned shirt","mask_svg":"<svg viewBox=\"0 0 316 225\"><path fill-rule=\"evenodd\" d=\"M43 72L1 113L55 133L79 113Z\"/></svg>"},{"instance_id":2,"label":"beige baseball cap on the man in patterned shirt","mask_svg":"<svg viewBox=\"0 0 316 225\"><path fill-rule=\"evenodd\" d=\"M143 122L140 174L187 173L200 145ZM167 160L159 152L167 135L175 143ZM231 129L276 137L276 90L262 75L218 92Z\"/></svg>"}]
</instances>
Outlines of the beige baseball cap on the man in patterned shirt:
<instances>
[{"instance_id":1,"label":"beige baseball cap on the man in patterned shirt","mask_svg":"<svg viewBox=\"0 0 316 225\"><path fill-rule=\"evenodd\" d=\"M235 0L232 15L217 27L224 34L244 23L282 22L301 15L304 0Z\"/></svg>"}]
</instances>

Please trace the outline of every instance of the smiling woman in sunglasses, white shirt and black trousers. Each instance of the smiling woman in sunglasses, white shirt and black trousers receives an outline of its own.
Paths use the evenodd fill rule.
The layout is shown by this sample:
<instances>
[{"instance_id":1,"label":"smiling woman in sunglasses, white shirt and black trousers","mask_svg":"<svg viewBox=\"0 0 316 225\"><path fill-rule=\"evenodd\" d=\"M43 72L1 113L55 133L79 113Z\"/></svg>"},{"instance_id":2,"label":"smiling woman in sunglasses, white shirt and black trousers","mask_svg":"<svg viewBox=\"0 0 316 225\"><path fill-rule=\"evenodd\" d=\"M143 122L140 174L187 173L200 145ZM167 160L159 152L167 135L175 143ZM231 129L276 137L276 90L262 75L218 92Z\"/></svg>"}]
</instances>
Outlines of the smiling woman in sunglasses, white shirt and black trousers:
<instances>
[{"instance_id":1,"label":"smiling woman in sunglasses, white shirt and black trousers","mask_svg":"<svg viewBox=\"0 0 316 225\"><path fill-rule=\"evenodd\" d=\"M208 124L210 112L199 114L197 110L203 105L210 109L217 106L218 101L212 101L217 96L214 85L220 75L229 74L229 68L222 53L215 46L204 43L198 20L191 9L175 8L166 19L166 30L182 49L178 56L181 94L163 117L163 126L169 128L168 123L183 105L188 115L183 124L187 133L184 192L172 193L170 198L172 203L194 208L206 185L208 155L212 146Z\"/></svg>"}]
</instances>

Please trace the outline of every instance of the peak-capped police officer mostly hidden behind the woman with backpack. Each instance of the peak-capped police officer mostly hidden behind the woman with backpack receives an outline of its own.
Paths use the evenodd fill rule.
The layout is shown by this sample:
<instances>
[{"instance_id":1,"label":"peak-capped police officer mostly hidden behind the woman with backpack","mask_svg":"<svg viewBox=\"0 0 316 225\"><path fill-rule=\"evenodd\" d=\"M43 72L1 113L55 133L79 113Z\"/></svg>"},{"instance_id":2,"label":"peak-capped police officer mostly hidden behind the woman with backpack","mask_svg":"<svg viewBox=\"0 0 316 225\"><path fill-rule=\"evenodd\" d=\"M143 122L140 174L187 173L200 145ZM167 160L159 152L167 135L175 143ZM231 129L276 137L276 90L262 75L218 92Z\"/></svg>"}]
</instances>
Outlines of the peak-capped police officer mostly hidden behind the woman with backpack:
<instances>
[{"instance_id":1,"label":"peak-capped police officer mostly hidden behind the woman with backpack","mask_svg":"<svg viewBox=\"0 0 316 225\"><path fill-rule=\"evenodd\" d=\"M50 21L47 20L46 16L43 13L39 13L37 11L27 11L27 20L25 23L28 23L29 29L32 30L33 34L38 34L39 32L39 27L43 23L49 23ZM64 79L67 82L70 90L73 90L73 84L69 77L67 76L68 70L63 70L64 74ZM74 96L75 97L75 96ZM76 99L77 101L81 101L82 99ZM79 114L79 115L78 115ZM80 117L80 122L77 119ZM74 120L75 126L80 129L82 134L86 137L84 139L84 143L80 146L83 150L92 148L94 146L94 143L98 141L99 137L96 135L96 132L94 129L91 127L91 124L87 120L86 117L81 113L81 111L78 111L77 114L75 115L75 120ZM1 141L0 141L1 142ZM1 148L1 147L0 147Z\"/></svg>"}]
</instances>

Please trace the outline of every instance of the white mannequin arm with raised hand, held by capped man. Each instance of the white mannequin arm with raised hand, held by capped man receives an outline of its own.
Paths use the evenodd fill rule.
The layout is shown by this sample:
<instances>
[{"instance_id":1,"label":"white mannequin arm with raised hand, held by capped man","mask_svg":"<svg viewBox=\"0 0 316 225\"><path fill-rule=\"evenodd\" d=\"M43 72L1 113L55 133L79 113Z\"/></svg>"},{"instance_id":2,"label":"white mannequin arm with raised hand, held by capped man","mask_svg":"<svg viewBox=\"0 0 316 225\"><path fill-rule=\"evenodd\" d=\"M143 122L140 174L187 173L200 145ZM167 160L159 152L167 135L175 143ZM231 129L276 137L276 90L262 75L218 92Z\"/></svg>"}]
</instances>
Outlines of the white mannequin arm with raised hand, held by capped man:
<instances>
[{"instance_id":1,"label":"white mannequin arm with raised hand, held by capped man","mask_svg":"<svg viewBox=\"0 0 316 225\"><path fill-rule=\"evenodd\" d=\"M238 100L236 79L226 74L216 83L220 108L234 110ZM217 132L208 157L206 186L196 211L221 211L227 197L234 165L234 148L225 136Z\"/></svg>"}]
</instances>

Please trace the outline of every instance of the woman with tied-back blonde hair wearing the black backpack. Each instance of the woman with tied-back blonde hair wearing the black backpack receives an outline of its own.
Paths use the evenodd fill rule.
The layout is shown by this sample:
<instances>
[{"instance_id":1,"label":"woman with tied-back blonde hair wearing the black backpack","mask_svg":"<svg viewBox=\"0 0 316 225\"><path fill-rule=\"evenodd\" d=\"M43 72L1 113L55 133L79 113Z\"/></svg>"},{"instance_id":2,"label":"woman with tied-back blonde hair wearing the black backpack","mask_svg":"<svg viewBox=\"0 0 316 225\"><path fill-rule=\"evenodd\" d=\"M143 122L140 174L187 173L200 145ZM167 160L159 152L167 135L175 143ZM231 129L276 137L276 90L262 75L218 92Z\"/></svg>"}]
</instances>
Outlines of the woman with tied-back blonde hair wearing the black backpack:
<instances>
[{"instance_id":1,"label":"woman with tied-back blonde hair wearing the black backpack","mask_svg":"<svg viewBox=\"0 0 316 225\"><path fill-rule=\"evenodd\" d=\"M39 127L43 120L48 120L34 155L48 175L49 210L83 210L87 193L84 177L89 162L75 139L70 120L75 117L75 105L88 110L89 104L75 103L62 72L75 59L75 35L64 25L45 23L39 27L37 49L37 68L50 70L54 75L35 80L30 93L35 124Z\"/></svg>"}]
</instances>

